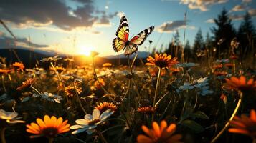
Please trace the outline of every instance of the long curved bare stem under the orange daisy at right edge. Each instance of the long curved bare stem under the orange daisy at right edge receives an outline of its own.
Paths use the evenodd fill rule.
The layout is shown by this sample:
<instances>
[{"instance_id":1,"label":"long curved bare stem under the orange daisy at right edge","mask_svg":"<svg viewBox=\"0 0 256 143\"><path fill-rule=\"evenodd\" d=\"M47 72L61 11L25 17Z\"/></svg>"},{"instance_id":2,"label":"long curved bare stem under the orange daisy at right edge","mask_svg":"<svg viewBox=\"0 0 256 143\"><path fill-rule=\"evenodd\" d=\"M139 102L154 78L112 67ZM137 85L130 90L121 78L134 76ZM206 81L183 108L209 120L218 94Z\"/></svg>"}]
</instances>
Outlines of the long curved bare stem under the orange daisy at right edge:
<instances>
[{"instance_id":1,"label":"long curved bare stem under the orange daisy at right edge","mask_svg":"<svg viewBox=\"0 0 256 143\"><path fill-rule=\"evenodd\" d=\"M235 107L233 114L229 118L229 121L225 124L224 128L222 128L219 134L217 134L217 136L215 136L214 139L212 139L211 143L216 142L217 139L219 139L219 137L223 134L223 132L229 127L230 122L232 121L234 116L237 114L238 109L240 108L241 102L242 102L242 92L240 92L240 99L238 100L237 106Z\"/></svg>"}]
</instances>

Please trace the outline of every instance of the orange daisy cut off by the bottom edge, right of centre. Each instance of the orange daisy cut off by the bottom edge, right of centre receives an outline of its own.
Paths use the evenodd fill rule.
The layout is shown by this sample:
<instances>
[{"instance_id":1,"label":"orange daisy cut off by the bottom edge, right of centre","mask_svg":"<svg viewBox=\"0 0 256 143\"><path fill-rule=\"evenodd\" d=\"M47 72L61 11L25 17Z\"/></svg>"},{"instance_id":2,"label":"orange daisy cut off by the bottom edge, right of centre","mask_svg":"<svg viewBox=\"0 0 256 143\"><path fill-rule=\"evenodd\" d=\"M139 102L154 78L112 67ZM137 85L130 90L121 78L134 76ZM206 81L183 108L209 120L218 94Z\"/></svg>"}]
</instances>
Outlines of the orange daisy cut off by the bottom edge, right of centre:
<instances>
[{"instance_id":1,"label":"orange daisy cut off by the bottom edge, right of centre","mask_svg":"<svg viewBox=\"0 0 256 143\"><path fill-rule=\"evenodd\" d=\"M176 130L176 124L170 124L169 127L167 127L166 121L163 120L160 127L156 122L153 122L153 129L148 129L148 127L144 125L141 128L147 134L147 136L139 134L137 137L138 143L181 143L181 134L173 135Z\"/></svg>"}]
</instances>

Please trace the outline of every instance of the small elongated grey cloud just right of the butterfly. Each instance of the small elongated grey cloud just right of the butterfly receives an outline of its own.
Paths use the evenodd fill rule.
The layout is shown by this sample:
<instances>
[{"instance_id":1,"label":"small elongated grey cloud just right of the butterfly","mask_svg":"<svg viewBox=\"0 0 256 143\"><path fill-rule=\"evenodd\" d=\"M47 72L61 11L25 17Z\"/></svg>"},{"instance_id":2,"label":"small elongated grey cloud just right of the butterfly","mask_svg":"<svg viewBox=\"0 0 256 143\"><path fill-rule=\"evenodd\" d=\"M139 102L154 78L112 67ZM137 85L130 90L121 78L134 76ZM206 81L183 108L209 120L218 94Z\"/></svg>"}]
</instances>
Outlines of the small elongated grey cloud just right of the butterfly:
<instances>
[{"instance_id":1,"label":"small elongated grey cloud just right of the butterfly","mask_svg":"<svg viewBox=\"0 0 256 143\"><path fill-rule=\"evenodd\" d=\"M161 24L160 26L158 26L156 29L158 32L160 33L172 33L178 29L196 29L195 26L185 26L184 21L183 20L177 20L177 21L168 21L168 22L164 22L163 24Z\"/></svg>"}]
</instances>

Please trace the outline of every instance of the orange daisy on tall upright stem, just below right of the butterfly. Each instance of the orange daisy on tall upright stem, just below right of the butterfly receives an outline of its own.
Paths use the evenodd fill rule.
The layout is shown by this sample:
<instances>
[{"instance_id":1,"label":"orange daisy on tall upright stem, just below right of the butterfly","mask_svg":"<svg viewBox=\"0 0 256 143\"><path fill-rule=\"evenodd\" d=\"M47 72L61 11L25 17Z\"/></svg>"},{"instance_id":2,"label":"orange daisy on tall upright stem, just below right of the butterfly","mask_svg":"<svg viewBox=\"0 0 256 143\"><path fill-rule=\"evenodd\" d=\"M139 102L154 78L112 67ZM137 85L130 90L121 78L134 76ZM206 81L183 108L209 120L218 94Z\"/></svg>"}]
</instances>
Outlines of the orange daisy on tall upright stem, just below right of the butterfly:
<instances>
[{"instance_id":1,"label":"orange daisy on tall upright stem, just below right of the butterfly","mask_svg":"<svg viewBox=\"0 0 256 143\"><path fill-rule=\"evenodd\" d=\"M171 59L171 55L167 56L167 54L155 54L155 59L152 56L147 58L148 63L147 66L158 66L159 68L170 68L171 66L178 63L177 58Z\"/></svg>"}]
</instances>

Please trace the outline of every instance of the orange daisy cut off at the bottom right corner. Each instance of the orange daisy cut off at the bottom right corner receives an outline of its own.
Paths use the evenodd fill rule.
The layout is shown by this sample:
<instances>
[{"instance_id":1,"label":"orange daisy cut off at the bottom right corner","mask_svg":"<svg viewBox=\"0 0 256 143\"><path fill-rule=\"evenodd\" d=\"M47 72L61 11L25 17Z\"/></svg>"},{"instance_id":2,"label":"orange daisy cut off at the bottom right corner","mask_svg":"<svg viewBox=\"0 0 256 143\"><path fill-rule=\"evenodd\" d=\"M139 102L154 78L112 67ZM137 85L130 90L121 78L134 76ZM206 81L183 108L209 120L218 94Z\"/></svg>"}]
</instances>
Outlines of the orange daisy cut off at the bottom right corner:
<instances>
[{"instance_id":1,"label":"orange daisy cut off at the bottom right corner","mask_svg":"<svg viewBox=\"0 0 256 143\"><path fill-rule=\"evenodd\" d=\"M232 128L229 128L229 132L237 134L245 134L252 138L256 137L256 112L254 109L250 112L250 117L245 114L240 117L235 116L230 122Z\"/></svg>"}]
</instances>

